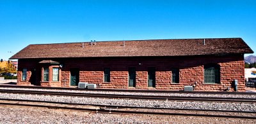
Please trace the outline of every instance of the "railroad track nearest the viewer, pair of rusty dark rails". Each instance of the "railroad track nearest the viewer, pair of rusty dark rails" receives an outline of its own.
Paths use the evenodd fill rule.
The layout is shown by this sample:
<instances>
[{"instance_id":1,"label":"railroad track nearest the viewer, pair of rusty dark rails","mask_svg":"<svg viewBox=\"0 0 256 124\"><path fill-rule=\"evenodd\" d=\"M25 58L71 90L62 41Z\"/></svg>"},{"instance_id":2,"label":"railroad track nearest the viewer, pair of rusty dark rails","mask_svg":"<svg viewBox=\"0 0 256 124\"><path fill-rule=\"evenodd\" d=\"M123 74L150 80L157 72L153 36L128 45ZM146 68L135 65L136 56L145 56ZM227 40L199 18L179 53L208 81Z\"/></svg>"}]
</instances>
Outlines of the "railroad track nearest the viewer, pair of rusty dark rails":
<instances>
[{"instance_id":1,"label":"railroad track nearest the viewer, pair of rusty dark rails","mask_svg":"<svg viewBox=\"0 0 256 124\"><path fill-rule=\"evenodd\" d=\"M10 99L1 99L1 100L10 100ZM42 102L38 100L12 100L17 102ZM70 104L65 102L47 102L52 104ZM99 106L104 107L104 109L90 109L90 108L81 108L81 107L63 107L63 106L49 106L42 104L22 104L22 103L8 103L8 102L0 102L0 105L9 105L9 106L29 106L29 107L47 107L51 109L69 109L76 111L90 111L93 113L111 113L111 114L162 114L162 115L177 115L177 116L205 116L205 117L217 117L217 118L245 118L245 119L256 119L255 111L220 111L225 113L251 113L254 116L234 116L230 114L193 114L193 113L170 113L170 112L159 112L159 111L138 111L131 110L132 109L165 109L166 108L157 108L157 107L127 107L127 106L104 106L104 105L90 105L90 106ZM76 105L88 105L88 104L76 104ZM115 109L113 109L115 108ZM120 108L130 108L130 110L124 110ZM170 109L169 109L170 110ZM172 109L173 110L173 109ZM188 110L188 111L214 111L216 110L202 110L202 109L176 109L176 110ZM218 110L217 110L218 111Z\"/></svg>"}]
</instances>

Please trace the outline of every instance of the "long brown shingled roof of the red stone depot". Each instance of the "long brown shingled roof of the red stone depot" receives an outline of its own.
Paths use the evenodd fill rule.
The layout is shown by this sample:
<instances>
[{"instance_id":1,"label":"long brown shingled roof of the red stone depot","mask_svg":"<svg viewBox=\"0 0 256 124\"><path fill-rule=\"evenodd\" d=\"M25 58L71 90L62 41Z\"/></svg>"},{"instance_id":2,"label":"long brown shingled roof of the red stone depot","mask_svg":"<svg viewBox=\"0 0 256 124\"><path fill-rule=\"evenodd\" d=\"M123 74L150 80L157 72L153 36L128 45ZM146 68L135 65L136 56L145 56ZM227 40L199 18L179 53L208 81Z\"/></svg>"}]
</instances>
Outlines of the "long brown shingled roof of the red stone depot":
<instances>
[{"instance_id":1,"label":"long brown shingled roof of the red stone depot","mask_svg":"<svg viewBox=\"0 0 256 124\"><path fill-rule=\"evenodd\" d=\"M253 53L241 38L154 39L28 45L10 59L150 57ZM204 44L205 43L205 44Z\"/></svg>"}]
</instances>

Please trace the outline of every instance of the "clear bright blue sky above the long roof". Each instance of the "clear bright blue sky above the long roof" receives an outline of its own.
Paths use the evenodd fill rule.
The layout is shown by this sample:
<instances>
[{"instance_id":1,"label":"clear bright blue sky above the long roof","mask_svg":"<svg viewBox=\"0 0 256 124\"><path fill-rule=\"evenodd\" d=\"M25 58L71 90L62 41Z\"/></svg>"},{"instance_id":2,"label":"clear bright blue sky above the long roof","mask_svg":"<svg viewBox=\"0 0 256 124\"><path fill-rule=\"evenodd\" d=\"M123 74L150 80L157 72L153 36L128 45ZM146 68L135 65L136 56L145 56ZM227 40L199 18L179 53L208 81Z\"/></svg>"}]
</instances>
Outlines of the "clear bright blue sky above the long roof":
<instances>
[{"instance_id":1,"label":"clear bright blue sky above the long roof","mask_svg":"<svg viewBox=\"0 0 256 124\"><path fill-rule=\"evenodd\" d=\"M4 60L30 44L180 38L243 38L256 52L256 1L0 0Z\"/></svg>"}]
</instances>

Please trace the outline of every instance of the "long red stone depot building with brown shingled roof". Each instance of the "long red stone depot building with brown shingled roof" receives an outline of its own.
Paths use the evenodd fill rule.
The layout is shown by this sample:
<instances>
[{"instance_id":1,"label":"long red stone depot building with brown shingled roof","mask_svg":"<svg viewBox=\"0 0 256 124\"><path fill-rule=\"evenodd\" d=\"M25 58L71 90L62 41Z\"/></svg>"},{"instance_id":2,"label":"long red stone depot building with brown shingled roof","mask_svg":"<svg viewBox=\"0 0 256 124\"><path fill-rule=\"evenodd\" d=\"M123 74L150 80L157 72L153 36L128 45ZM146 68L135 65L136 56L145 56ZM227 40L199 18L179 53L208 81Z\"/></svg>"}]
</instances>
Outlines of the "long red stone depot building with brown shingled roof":
<instances>
[{"instance_id":1,"label":"long red stone depot building with brown shingled roof","mask_svg":"<svg viewBox=\"0 0 256 124\"><path fill-rule=\"evenodd\" d=\"M223 91L237 79L244 91L244 53L241 38L156 39L29 45L10 59L17 85Z\"/></svg>"}]
</instances>

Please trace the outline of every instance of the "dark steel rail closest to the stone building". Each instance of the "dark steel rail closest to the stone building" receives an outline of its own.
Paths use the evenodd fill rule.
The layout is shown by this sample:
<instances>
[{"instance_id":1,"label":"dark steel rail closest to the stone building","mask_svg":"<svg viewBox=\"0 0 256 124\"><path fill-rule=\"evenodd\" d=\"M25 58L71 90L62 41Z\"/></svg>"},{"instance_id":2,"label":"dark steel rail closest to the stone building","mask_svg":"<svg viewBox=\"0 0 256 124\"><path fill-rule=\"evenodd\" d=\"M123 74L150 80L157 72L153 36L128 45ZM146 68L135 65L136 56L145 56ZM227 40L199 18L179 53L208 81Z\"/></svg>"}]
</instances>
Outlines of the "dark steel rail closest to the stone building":
<instances>
[{"instance_id":1,"label":"dark steel rail closest to the stone building","mask_svg":"<svg viewBox=\"0 0 256 124\"><path fill-rule=\"evenodd\" d=\"M45 86L17 86L17 85L0 85L3 88L34 88L34 89L52 89L52 90L88 90L88 91L108 91L108 92L148 92L148 93L205 93L205 94L250 94L256 95L256 92L202 92L202 91L173 91L173 90L134 90L134 89L108 89L108 88L67 88L67 87L45 87Z\"/></svg>"}]
</instances>

